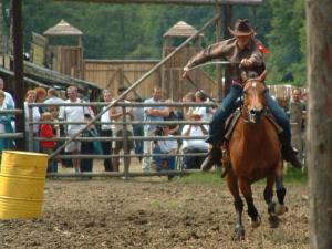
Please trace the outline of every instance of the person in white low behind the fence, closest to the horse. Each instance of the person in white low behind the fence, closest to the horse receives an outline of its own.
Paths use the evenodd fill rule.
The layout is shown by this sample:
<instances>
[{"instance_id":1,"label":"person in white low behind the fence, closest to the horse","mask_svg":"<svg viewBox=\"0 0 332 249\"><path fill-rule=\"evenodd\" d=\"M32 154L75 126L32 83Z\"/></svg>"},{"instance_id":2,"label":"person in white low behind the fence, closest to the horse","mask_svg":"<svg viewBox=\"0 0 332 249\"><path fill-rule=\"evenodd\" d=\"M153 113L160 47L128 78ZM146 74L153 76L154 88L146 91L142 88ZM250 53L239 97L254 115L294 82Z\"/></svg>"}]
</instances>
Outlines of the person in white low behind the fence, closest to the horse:
<instances>
[{"instance_id":1,"label":"person in white low behind the fence, closest to the horse","mask_svg":"<svg viewBox=\"0 0 332 249\"><path fill-rule=\"evenodd\" d=\"M201 113L194 112L191 114L191 121L201 122ZM208 134L208 126L204 124L188 124L183 128L184 136L205 136ZM181 151L184 154L189 153L207 153L208 144L205 139L184 139ZM201 163L204 162L206 156L184 156L184 168L200 168Z\"/></svg>"}]
</instances>

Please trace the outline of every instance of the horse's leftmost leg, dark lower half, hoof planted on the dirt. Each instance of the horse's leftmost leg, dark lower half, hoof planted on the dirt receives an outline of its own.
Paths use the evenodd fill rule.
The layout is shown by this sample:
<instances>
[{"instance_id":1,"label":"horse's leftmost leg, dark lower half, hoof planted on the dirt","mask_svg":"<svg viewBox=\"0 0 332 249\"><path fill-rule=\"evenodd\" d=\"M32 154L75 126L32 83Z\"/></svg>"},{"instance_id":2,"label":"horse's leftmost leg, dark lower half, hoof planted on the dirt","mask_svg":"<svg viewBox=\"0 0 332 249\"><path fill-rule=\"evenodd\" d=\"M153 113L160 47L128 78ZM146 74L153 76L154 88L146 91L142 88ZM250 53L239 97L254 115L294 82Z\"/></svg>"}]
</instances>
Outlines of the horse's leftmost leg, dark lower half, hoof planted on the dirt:
<instances>
[{"instance_id":1,"label":"horse's leftmost leg, dark lower half, hoof planted on the dirt","mask_svg":"<svg viewBox=\"0 0 332 249\"><path fill-rule=\"evenodd\" d=\"M245 239L245 227L242 224L243 201L240 197L237 178L234 175L232 170L228 172L226 179L227 179L228 189L235 199L234 206L236 209L236 227L235 227L234 240L242 240Z\"/></svg>"}]
</instances>

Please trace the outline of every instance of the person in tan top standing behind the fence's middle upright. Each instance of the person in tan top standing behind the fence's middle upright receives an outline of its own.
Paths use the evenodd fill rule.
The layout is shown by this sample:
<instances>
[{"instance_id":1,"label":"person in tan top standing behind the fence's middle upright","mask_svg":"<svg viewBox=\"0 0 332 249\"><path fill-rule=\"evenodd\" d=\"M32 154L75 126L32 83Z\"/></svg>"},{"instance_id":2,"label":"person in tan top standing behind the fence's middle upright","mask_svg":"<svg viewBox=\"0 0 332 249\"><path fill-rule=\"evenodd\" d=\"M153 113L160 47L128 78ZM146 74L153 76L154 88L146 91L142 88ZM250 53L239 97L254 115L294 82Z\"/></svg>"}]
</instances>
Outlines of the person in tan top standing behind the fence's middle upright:
<instances>
[{"instance_id":1,"label":"person in tan top standing behind the fence's middle upright","mask_svg":"<svg viewBox=\"0 0 332 249\"><path fill-rule=\"evenodd\" d=\"M120 87L117 90L117 95L120 96L122 93L124 93L127 89L126 87ZM126 96L123 96L121 102L124 103L129 103L126 101ZM133 108L132 107L126 107L126 115L128 118L127 121L132 122L134 116L133 116ZM114 122L123 122L123 107L122 106L115 106L111 108L111 121ZM123 132L123 124L113 124L112 125L112 131L113 131L113 137L124 137L124 132ZM126 125L126 134L127 137L133 136L133 126L131 124ZM128 141L128 151L134 148L134 142ZM120 151L124 149L123 147L123 141L114 141L113 142L113 155L118 155ZM128 157L128 164L131 164L131 157ZM112 165L114 172L118 172L118 166L120 166L120 158L113 157L112 158Z\"/></svg>"}]
</instances>

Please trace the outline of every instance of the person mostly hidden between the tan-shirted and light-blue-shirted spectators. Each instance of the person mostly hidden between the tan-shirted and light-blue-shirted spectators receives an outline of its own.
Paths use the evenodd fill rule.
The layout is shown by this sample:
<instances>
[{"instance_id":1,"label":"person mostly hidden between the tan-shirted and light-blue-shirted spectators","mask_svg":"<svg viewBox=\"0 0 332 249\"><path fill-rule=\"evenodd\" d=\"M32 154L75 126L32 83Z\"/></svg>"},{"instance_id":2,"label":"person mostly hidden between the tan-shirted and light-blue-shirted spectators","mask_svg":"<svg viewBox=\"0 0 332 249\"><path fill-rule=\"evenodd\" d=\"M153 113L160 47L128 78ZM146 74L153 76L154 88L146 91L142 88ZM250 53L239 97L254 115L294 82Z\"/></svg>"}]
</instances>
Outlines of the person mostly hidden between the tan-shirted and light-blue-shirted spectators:
<instances>
[{"instance_id":1,"label":"person mostly hidden between the tan-shirted and light-blue-shirted spectators","mask_svg":"<svg viewBox=\"0 0 332 249\"><path fill-rule=\"evenodd\" d=\"M135 102L142 102L141 98L137 98ZM133 124L133 133L134 136L144 136L144 108L142 106L137 106L133 108L134 121L139 122L137 124ZM135 141L135 154L139 155L139 163L142 162L143 154L143 141Z\"/></svg>"}]
</instances>

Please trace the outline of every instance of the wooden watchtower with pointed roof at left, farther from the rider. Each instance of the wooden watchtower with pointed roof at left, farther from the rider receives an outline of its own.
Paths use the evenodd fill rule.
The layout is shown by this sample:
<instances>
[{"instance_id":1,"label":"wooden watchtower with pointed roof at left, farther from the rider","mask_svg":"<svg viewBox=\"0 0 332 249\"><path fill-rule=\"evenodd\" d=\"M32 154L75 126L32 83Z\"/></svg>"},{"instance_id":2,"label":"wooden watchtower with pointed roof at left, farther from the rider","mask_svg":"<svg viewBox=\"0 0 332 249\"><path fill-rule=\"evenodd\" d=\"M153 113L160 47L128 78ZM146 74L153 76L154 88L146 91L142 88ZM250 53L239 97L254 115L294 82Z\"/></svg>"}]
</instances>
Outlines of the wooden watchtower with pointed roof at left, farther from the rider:
<instances>
[{"instance_id":1,"label":"wooden watchtower with pointed roof at left, farther from the rider","mask_svg":"<svg viewBox=\"0 0 332 249\"><path fill-rule=\"evenodd\" d=\"M56 25L48 29L43 33L49 40L46 63L49 68L72 77L83 79L83 32L72 27L66 21L61 20ZM64 42L75 40L72 45L56 44L51 38L59 38ZM63 38L66 38L65 40ZM54 44L53 44L54 43Z\"/></svg>"}]
</instances>

